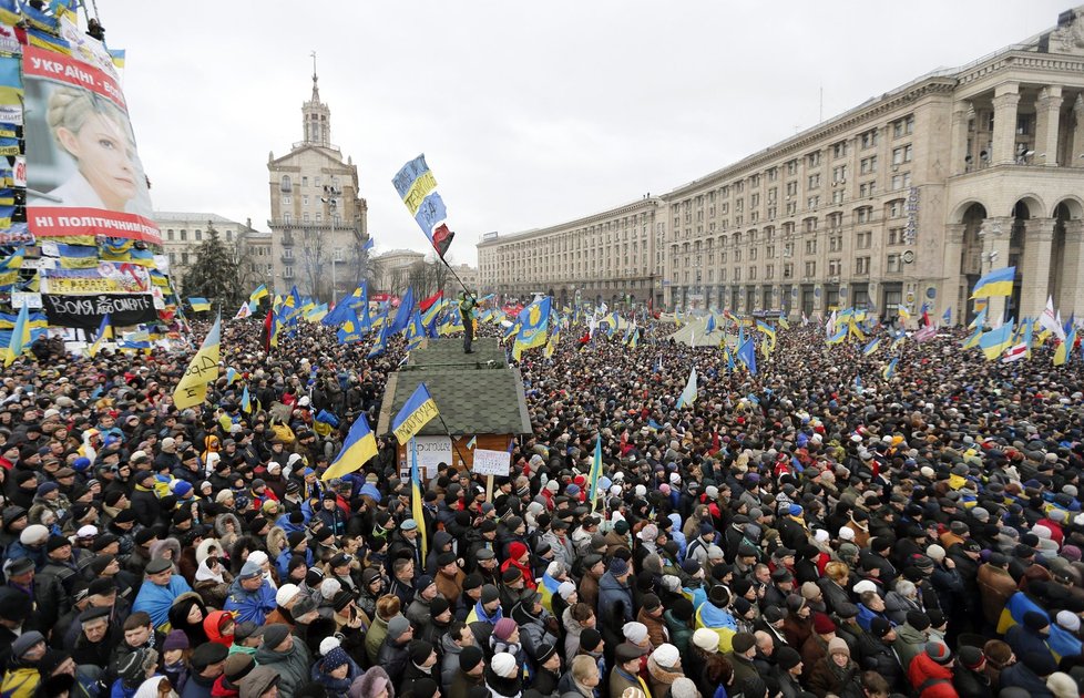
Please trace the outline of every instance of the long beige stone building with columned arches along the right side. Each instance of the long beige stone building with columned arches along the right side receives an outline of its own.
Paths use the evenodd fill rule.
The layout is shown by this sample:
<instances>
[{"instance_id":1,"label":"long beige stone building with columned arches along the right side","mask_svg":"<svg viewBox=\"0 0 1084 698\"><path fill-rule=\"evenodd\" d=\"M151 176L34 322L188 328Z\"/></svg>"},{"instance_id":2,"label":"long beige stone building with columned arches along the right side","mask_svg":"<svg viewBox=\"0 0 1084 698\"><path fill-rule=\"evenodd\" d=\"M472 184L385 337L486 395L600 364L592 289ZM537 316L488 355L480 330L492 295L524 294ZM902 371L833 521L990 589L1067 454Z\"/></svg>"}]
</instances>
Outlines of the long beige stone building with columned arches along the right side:
<instances>
[{"instance_id":1,"label":"long beige stone building with columned arches along the right side","mask_svg":"<svg viewBox=\"0 0 1084 698\"><path fill-rule=\"evenodd\" d=\"M1034 318L1047 296L1063 317L1084 314L1082 14L657 198L490 234L478 245L482 285L611 300L627 288L642 301L646 281L667 307L794 317L924 306L961 321L974 283L1014 266L1013 294L992 315Z\"/></svg>"}]
</instances>

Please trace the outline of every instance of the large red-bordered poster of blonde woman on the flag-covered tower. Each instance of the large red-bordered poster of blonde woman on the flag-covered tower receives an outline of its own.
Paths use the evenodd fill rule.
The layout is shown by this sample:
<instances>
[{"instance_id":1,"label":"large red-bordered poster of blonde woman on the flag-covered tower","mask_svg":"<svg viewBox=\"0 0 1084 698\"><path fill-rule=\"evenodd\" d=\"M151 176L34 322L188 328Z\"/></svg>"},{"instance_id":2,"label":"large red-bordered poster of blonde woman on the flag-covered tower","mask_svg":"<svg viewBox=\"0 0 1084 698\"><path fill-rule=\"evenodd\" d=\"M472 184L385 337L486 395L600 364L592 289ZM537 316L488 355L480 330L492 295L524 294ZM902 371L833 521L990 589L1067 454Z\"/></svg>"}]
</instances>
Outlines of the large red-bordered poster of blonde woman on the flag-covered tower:
<instances>
[{"instance_id":1,"label":"large red-bordered poster of blonde woman on the flag-covered tower","mask_svg":"<svg viewBox=\"0 0 1084 698\"><path fill-rule=\"evenodd\" d=\"M160 244L116 80L74 58L34 47L23 54L23 75L27 220L33 234L105 235Z\"/></svg>"}]
</instances>

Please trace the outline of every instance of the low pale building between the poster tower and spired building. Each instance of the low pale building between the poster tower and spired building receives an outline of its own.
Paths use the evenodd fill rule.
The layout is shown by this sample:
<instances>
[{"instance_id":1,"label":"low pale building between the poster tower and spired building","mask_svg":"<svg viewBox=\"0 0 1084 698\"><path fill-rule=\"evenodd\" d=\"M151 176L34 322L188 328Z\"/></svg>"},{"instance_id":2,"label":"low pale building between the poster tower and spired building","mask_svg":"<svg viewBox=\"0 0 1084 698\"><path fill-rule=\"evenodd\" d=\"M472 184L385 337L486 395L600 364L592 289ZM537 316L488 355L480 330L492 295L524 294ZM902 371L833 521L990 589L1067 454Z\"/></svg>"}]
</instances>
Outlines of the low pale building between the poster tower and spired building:
<instances>
[{"instance_id":1,"label":"low pale building between the poster tower and spired building","mask_svg":"<svg viewBox=\"0 0 1084 698\"><path fill-rule=\"evenodd\" d=\"M156 211L154 222L162 232L162 247L170 258L170 274L177 280L183 279L195 264L196 252L207 239L211 228L218 233L218 240L225 245L231 260L237 264L242 288L269 285L274 278L272 236L254 229L252 220L238 223L213 213Z\"/></svg>"}]
</instances>

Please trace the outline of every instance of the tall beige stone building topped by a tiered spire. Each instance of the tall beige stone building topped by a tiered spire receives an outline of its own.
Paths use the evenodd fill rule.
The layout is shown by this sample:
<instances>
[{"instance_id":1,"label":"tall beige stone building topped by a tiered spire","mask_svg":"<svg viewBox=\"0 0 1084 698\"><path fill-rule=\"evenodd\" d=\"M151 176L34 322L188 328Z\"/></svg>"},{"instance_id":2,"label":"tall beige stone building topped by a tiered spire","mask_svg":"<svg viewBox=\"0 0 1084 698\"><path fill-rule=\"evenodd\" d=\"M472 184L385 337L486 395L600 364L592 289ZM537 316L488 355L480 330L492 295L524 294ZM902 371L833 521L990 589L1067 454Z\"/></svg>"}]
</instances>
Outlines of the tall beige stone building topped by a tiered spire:
<instances>
[{"instance_id":1,"label":"tall beige stone building topped by a tiered spire","mask_svg":"<svg viewBox=\"0 0 1084 698\"><path fill-rule=\"evenodd\" d=\"M357 165L331 143L331 110L320 100L315 53L301 136L285 155L267 156L275 292L297 286L303 295L328 301L365 277L368 207L358 191Z\"/></svg>"}]
</instances>

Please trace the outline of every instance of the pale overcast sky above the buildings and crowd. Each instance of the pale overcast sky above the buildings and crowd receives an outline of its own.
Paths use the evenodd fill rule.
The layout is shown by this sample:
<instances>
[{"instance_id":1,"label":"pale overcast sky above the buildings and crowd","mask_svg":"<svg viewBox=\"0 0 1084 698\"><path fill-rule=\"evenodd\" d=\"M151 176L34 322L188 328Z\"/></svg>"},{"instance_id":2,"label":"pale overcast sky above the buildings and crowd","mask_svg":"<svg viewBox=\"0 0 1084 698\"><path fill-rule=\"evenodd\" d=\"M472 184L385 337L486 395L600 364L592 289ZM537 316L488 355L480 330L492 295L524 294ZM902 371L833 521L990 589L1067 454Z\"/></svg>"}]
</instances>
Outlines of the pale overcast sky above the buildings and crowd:
<instances>
[{"instance_id":1,"label":"pale overcast sky above the buildings and crowd","mask_svg":"<svg viewBox=\"0 0 1084 698\"><path fill-rule=\"evenodd\" d=\"M376 252L431 250L391 186L425 152L474 264L485 232L663 193L926 72L1056 23L1072 0L98 0L157 211L267 229L267 154L301 140L319 55Z\"/></svg>"}]
</instances>

